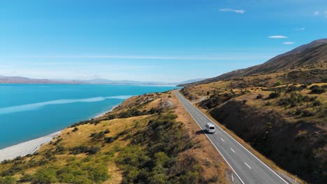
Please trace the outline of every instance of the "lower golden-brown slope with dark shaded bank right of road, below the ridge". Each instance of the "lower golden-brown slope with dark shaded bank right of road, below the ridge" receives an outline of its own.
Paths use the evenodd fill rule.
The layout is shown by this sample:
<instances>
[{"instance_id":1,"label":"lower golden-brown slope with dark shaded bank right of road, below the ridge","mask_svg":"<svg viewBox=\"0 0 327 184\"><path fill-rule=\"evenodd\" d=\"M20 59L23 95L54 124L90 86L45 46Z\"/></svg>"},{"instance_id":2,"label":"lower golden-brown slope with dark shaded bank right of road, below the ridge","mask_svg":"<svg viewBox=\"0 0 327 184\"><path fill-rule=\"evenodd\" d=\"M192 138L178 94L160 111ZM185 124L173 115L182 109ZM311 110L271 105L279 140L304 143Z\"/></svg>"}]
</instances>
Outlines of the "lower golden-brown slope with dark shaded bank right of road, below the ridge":
<instances>
[{"instance_id":1,"label":"lower golden-brown slope with dark shaded bank right of road, below the ridge","mask_svg":"<svg viewBox=\"0 0 327 184\"><path fill-rule=\"evenodd\" d=\"M275 77L266 74L263 82ZM251 79L243 82L255 84ZM205 98L199 107L282 169L309 183L326 183L327 84L241 87L234 82L186 87L182 92L191 100Z\"/></svg>"}]
</instances>

